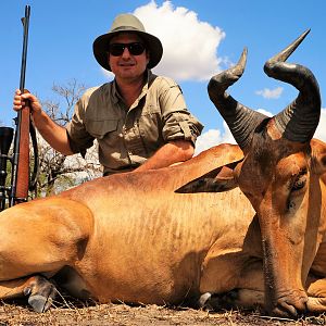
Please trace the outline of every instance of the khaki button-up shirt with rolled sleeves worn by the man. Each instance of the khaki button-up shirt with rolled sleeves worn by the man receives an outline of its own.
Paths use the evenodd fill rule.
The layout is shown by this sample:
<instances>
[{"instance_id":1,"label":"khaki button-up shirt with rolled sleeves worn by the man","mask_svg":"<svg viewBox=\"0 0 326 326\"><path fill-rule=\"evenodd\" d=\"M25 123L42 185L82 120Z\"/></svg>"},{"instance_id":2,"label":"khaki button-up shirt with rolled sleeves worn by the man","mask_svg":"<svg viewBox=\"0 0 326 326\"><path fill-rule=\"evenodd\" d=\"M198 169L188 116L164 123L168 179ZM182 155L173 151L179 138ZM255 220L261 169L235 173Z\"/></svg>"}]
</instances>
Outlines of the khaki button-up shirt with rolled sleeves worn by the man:
<instances>
[{"instance_id":1,"label":"khaki button-up shirt with rolled sleeves worn by the man","mask_svg":"<svg viewBox=\"0 0 326 326\"><path fill-rule=\"evenodd\" d=\"M97 139L104 175L130 171L171 140L195 145L203 126L186 108L180 88L148 72L139 98L127 108L115 82L88 89L67 125L73 152L85 152Z\"/></svg>"}]
</instances>

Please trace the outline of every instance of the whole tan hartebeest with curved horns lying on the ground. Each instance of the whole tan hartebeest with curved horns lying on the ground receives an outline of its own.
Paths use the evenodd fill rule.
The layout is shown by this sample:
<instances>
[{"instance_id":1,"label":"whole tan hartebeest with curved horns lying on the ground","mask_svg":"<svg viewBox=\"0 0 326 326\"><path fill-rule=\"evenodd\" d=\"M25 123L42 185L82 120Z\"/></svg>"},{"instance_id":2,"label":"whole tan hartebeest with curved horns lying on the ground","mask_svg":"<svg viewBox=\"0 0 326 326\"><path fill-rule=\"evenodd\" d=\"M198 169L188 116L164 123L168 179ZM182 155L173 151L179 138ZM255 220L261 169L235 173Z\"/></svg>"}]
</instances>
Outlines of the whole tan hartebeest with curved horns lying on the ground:
<instances>
[{"instance_id":1,"label":"whole tan hartebeest with curved horns lying on the ground","mask_svg":"<svg viewBox=\"0 0 326 326\"><path fill-rule=\"evenodd\" d=\"M27 296L45 311L55 279L100 302L209 304L234 290L229 303L265 302L272 314L324 312L326 146L311 140L321 98L308 68L285 63L304 36L265 65L300 91L272 118L225 92L241 76L246 51L211 79L210 98L239 147L95 179L2 212L0 299Z\"/></svg>"}]
</instances>

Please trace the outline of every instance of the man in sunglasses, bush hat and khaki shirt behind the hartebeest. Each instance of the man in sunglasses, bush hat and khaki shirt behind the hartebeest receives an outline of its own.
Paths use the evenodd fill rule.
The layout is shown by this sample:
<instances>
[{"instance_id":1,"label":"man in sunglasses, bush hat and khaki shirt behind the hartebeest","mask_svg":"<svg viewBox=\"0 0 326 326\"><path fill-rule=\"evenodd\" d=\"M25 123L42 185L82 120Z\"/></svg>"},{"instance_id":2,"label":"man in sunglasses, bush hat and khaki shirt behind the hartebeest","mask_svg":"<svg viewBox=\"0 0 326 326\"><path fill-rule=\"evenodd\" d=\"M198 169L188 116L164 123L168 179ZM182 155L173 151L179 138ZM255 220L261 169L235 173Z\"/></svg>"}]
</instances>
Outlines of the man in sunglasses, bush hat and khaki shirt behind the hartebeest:
<instances>
[{"instance_id":1,"label":"man in sunglasses, bush hat and khaki shirt behind the hartebeest","mask_svg":"<svg viewBox=\"0 0 326 326\"><path fill-rule=\"evenodd\" d=\"M179 87L151 73L162 43L131 14L118 15L93 42L98 63L115 78L88 89L66 127L57 125L32 93L16 90L14 110L29 100L41 136L62 154L85 154L93 140L104 175L160 168L193 155L202 125L187 111Z\"/></svg>"}]
</instances>

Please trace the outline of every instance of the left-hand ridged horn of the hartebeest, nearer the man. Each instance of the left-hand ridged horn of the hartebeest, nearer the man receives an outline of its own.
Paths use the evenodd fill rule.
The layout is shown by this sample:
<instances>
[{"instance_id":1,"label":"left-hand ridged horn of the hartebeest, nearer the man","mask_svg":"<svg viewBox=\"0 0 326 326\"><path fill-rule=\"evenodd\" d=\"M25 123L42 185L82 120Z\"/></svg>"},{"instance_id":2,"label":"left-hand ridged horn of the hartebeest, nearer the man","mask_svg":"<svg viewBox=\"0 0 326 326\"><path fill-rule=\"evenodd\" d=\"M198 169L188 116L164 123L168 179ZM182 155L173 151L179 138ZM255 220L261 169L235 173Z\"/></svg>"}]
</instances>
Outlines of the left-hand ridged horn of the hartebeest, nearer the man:
<instances>
[{"instance_id":1,"label":"left-hand ridged horn of the hartebeest, nearer the man","mask_svg":"<svg viewBox=\"0 0 326 326\"><path fill-rule=\"evenodd\" d=\"M242 150L251 141L255 127L267 118L266 115L242 105L226 92L226 89L242 76L246 62L247 49L244 48L239 62L234 67L212 77L208 86L211 101L220 111Z\"/></svg>"}]
</instances>

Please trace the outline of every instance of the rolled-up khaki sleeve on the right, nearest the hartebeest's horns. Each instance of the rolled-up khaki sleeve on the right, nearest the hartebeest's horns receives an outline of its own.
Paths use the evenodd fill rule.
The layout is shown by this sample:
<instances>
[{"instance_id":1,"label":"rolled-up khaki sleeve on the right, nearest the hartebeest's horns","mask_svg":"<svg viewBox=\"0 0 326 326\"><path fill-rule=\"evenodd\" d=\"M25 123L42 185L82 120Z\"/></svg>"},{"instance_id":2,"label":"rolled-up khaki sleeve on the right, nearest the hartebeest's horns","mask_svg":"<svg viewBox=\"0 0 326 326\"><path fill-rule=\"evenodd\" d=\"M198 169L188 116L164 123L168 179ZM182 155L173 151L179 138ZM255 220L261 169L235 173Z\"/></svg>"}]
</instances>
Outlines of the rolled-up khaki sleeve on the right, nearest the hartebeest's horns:
<instances>
[{"instance_id":1,"label":"rolled-up khaki sleeve on the right, nearest the hartebeest's horns","mask_svg":"<svg viewBox=\"0 0 326 326\"><path fill-rule=\"evenodd\" d=\"M160 96L160 106L163 115L163 138L171 140L185 139L195 146L203 125L187 110L180 87L172 79L165 79Z\"/></svg>"}]
</instances>

